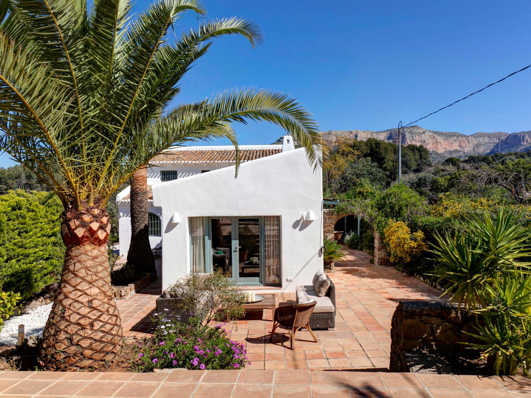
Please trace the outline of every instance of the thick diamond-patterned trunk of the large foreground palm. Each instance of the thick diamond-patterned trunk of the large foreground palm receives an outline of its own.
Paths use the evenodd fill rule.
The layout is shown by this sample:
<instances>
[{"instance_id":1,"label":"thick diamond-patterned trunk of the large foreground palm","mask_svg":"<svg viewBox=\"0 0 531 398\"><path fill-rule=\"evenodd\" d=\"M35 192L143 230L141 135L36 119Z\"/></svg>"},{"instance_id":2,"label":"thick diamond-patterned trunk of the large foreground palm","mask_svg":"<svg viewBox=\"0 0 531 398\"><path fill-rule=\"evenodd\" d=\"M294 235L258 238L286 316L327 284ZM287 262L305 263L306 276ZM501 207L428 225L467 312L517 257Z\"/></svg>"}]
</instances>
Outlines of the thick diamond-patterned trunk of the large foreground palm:
<instances>
[{"instance_id":1,"label":"thick diamond-patterned trunk of the large foreground palm","mask_svg":"<svg viewBox=\"0 0 531 398\"><path fill-rule=\"evenodd\" d=\"M109 232L109 215L98 204L81 211L70 206L62 215L63 273L39 348L45 370L99 369L122 354L122 322L110 285Z\"/></svg>"}]
</instances>

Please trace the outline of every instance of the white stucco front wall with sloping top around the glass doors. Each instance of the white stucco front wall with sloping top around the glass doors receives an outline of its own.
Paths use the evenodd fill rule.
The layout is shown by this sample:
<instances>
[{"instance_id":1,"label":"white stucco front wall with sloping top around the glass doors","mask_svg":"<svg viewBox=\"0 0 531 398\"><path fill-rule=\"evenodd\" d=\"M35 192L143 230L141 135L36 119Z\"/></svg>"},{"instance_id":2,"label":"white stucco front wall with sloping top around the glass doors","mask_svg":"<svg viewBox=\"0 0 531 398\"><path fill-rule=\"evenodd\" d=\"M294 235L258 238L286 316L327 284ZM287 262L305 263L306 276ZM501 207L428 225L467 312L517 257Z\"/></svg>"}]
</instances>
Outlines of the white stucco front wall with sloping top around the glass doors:
<instances>
[{"instance_id":1,"label":"white stucco front wall with sloping top around the glass doors","mask_svg":"<svg viewBox=\"0 0 531 398\"><path fill-rule=\"evenodd\" d=\"M153 204L162 209L162 289L190 271L189 217L279 215L283 291L311 283L322 269L322 175L304 149L243 163L236 179L230 166L153 185L152 191ZM314 221L302 220L308 211ZM174 213L181 222L169 223Z\"/></svg>"}]
</instances>

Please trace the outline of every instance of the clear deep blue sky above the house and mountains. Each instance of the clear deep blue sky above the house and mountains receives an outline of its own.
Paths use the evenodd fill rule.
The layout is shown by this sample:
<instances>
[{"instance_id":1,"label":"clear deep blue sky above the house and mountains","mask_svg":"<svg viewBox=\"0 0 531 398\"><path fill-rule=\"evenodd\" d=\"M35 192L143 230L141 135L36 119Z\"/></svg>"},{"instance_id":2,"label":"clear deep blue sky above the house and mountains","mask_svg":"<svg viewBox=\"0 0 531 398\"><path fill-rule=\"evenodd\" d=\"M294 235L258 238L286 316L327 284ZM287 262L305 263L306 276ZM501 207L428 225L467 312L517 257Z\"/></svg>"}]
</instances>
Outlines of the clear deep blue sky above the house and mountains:
<instances>
[{"instance_id":1,"label":"clear deep blue sky above the house and mountains","mask_svg":"<svg viewBox=\"0 0 531 398\"><path fill-rule=\"evenodd\" d=\"M137 0L135 11L149 4ZM258 22L264 45L216 40L185 76L178 102L226 88L292 94L322 130L394 128L531 64L526 1L205 0L208 18ZM188 14L176 30L198 25ZM519 132L531 129L531 68L419 122L424 128ZM269 124L236 126L242 144L282 135ZM219 142L218 142L219 144ZM11 161L0 156L0 166Z\"/></svg>"}]
</instances>

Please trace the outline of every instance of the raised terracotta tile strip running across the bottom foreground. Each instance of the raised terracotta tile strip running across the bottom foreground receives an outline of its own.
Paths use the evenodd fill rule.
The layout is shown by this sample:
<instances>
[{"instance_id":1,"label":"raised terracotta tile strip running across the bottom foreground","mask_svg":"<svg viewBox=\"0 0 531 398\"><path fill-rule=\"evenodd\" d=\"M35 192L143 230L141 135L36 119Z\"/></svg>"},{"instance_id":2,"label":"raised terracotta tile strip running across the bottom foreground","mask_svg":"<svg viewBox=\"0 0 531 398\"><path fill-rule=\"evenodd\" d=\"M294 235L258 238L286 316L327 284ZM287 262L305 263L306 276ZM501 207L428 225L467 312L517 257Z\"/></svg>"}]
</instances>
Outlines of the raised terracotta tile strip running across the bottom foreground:
<instances>
[{"instance_id":1,"label":"raised terracotta tile strip running across the bottom foreground","mask_svg":"<svg viewBox=\"0 0 531 398\"><path fill-rule=\"evenodd\" d=\"M528 378L361 371L175 370L172 373L0 372L0 397L515 398Z\"/></svg>"}]
</instances>

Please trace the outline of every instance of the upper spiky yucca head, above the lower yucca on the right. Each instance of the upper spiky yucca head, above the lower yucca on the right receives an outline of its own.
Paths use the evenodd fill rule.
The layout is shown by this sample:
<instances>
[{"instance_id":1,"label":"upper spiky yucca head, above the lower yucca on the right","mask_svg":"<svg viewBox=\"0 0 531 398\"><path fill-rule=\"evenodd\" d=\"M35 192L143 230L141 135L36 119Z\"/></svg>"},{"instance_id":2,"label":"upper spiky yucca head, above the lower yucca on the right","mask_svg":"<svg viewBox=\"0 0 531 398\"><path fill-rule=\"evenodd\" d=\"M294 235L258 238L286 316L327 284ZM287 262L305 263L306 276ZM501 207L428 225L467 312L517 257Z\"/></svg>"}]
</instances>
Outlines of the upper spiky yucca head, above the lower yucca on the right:
<instances>
[{"instance_id":1,"label":"upper spiky yucca head, above the lower yucca on the right","mask_svg":"<svg viewBox=\"0 0 531 398\"><path fill-rule=\"evenodd\" d=\"M489 305L487 287L492 286L504 273L528 272L529 263L519 261L531 255L524 243L529 232L523 227L518 214L500 207L495 220L487 210L481 218L468 220L465 231L435 234L435 243L429 250L435 256L434 272L446 287L444 295L450 301L463 305L465 310L476 310Z\"/></svg>"}]
</instances>

